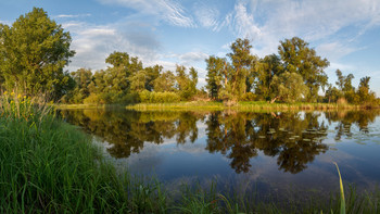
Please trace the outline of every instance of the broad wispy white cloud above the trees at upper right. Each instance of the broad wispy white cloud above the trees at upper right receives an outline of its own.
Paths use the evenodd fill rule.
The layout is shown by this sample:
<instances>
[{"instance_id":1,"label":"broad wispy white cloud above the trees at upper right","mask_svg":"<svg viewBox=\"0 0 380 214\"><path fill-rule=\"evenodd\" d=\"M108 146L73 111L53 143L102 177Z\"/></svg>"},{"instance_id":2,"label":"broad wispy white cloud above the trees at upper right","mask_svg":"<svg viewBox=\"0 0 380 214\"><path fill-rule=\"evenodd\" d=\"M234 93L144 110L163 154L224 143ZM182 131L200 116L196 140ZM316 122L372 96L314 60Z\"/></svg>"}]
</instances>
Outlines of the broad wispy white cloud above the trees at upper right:
<instances>
[{"instance_id":1,"label":"broad wispy white cloud above the trees at upper right","mask_svg":"<svg viewBox=\"0 0 380 214\"><path fill-rule=\"evenodd\" d=\"M378 0L251 0L238 1L226 23L238 37L253 39L253 52L263 56L277 52L279 40L299 36L309 42L330 38L337 41L355 38L380 25ZM232 17L231 17L232 16ZM350 27L350 29L347 29ZM345 30L342 33L342 30ZM321 48L327 49L327 45ZM327 53L346 55L355 48L341 46L344 51Z\"/></svg>"}]
</instances>

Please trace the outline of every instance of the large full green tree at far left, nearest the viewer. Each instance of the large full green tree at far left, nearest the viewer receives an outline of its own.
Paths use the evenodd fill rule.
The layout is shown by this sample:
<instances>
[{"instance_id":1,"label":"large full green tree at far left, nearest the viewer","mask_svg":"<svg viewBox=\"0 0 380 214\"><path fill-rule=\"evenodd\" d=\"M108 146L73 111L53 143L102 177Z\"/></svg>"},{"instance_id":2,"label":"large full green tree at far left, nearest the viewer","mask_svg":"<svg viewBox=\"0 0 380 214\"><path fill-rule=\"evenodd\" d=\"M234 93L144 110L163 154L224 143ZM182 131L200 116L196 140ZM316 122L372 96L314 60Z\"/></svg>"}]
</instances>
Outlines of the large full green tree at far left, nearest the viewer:
<instances>
[{"instance_id":1,"label":"large full green tree at far left, nearest the viewer","mask_svg":"<svg viewBox=\"0 0 380 214\"><path fill-rule=\"evenodd\" d=\"M12 26L0 25L0 76L7 88L59 99L69 79L64 66L75 52L72 38L42 9L21 15Z\"/></svg>"}]
</instances>

